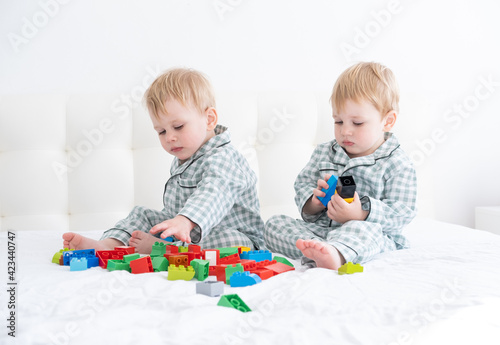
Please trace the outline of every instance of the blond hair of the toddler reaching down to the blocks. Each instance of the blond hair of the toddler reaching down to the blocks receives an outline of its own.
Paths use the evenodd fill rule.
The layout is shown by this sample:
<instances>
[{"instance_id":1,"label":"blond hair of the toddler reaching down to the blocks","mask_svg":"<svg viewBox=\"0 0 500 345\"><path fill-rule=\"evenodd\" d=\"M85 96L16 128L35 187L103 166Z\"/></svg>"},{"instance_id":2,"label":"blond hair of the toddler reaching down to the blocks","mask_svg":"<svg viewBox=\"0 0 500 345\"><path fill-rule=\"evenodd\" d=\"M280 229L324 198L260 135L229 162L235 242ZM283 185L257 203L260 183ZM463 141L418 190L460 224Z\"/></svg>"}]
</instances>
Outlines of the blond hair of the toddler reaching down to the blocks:
<instances>
[{"instance_id":1,"label":"blond hair of the toddler reaching down to the blocks","mask_svg":"<svg viewBox=\"0 0 500 345\"><path fill-rule=\"evenodd\" d=\"M150 113L159 117L166 113L165 102L176 100L183 106L192 106L201 113L215 107L212 85L198 71L187 68L173 68L160 75L144 94L144 102Z\"/></svg>"}]
</instances>

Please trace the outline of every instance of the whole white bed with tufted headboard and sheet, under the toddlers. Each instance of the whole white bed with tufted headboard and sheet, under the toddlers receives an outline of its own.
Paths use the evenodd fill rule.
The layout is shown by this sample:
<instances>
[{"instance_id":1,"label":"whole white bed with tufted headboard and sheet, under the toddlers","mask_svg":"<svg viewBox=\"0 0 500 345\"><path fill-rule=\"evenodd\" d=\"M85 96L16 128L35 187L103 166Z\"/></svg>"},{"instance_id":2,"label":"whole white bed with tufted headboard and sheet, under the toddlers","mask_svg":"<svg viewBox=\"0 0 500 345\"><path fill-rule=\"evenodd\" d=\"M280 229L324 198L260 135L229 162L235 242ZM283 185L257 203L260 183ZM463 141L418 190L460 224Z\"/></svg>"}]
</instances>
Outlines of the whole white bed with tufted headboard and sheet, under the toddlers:
<instances>
[{"instance_id":1,"label":"whole white bed with tufted headboard and sheet, under the toddlers","mask_svg":"<svg viewBox=\"0 0 500 345\"><path fill-rule=\"evenodd\" d=\"M218 94L220 122L258 174L264 219L297 216L293 181L315 145L332 137L328 96ZM363 273L295 262L296 271L255 286L226 287L249 313L219 307L195 293L196 281L168 281L167 273L70 272L51 263L64 232L99 238L134 205L161 208L171 158L144 109L120 101L0 97L0 272L7 282L12 230L18 281L16 338L7 336L10 296L1 293L0 344L500 343L500 236L427 218L406 230L412 249L380 255ZM405 138L413 128L397 130ZM421 210L434 200L423 168Z\"/></svg>"}]
</instances>

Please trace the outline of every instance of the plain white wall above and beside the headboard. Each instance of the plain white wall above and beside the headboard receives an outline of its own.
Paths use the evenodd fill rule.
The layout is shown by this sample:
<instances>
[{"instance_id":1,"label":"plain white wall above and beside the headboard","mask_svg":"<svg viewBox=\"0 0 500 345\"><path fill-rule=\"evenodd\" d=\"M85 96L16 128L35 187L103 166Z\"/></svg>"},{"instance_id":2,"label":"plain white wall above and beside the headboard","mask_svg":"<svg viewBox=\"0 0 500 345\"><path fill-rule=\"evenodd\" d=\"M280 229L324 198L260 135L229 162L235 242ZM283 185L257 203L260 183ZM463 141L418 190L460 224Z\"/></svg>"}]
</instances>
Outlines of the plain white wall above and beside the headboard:
<instances>
[{"instance_id":1,"label":"plain white wall above and beside the headboard","mask_svg":"<svg viewBox=\"0 0 500 345\"><path fill-rule=\"evenodd\" d=\"M421 214L473 226L500 205L500 6L494 1L1 1L0 94L122 93L188 66L223 90L328 93L356 61L401 87L396 133ZM327 99L325 99L327 102ZM244 107L244 104L242 104ZM25 130L25 129L20 129Z\"/></svg>"}]
</instances>

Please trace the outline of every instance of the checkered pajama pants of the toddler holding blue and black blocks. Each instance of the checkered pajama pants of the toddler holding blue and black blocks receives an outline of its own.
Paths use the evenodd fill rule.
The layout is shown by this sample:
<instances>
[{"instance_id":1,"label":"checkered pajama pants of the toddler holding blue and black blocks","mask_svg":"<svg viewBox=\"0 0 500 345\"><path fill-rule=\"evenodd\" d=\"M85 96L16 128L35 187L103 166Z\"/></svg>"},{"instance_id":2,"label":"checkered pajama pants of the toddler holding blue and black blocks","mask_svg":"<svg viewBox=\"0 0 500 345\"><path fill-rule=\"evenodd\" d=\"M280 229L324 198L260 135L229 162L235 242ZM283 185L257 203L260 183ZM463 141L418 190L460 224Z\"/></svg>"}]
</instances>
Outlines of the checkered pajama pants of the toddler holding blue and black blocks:
<instances>
[{"instance_id":1,"label":"checkered pajama pants of the toddler holding blue and black blocks","mask_svg":"<svg viewBox=\"0 0 500 345\"><path fill-rule=\"evenodd\" d=\"M301 258L298 239L315 239L337 248L346 262L363 263L379 253L396 250L396 244L387 237L380 224L349 221L337 228L322 227L315 223L293 219L284 215L271 217L264 232L266 247L292 259Z\"/></svg>"}]
</instances>

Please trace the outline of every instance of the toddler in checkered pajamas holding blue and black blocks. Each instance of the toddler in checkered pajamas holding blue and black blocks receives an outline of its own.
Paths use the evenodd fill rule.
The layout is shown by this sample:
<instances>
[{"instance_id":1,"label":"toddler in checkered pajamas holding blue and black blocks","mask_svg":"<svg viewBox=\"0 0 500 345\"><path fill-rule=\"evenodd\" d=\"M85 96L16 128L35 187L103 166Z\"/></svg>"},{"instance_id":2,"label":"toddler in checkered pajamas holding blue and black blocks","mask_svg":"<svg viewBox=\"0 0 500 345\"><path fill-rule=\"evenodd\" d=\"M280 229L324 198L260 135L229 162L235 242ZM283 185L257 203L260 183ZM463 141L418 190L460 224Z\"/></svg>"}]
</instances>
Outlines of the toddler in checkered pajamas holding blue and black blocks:
<instances>
[{"instance_id":1,"label":"toddler in checkered pajamas holding blue and black blocks","mask_svg":"<svg viewBox=\"0 0 500 345\"><path fill-rule=\"evenodd\" d=\"M399 111L391 70L377 63L348 68L330 102L335 140L316 147L294 185L303 220L274 216L264 238L273 252L336 270L408 247L402 229L416 215L417 184L410 159L390 133ZM331 175L353 176L351 203L335 194L325 208L318 199Z\"/></svg>"}]
</instances>

